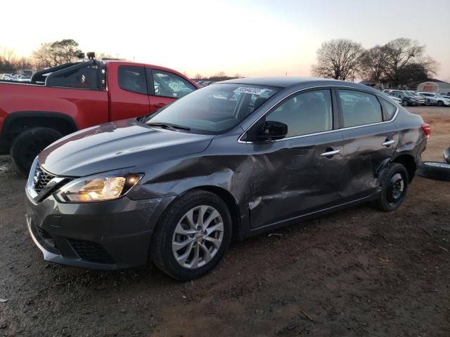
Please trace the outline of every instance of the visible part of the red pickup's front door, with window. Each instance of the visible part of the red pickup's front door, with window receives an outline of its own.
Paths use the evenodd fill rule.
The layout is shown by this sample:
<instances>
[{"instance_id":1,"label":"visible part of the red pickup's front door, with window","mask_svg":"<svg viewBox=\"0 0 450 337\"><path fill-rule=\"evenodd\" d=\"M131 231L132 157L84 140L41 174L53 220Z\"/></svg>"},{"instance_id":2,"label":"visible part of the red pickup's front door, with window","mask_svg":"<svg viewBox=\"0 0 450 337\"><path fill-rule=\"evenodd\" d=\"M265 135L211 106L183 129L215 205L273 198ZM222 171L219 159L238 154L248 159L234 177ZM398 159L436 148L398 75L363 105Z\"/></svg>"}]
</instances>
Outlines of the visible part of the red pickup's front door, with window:
<instances>
[{"instance_id":1,"label":"visible part of the red pickup's front door, with window","mask_svg":"<svg viewBox=\"0 0 450 337\"><path fill-rule=\"evenodd\" d=\"M164 70L146 67L150 113L191 93L196 88L186 79Z\"/></svg>"}]
</instances>

